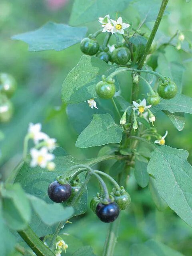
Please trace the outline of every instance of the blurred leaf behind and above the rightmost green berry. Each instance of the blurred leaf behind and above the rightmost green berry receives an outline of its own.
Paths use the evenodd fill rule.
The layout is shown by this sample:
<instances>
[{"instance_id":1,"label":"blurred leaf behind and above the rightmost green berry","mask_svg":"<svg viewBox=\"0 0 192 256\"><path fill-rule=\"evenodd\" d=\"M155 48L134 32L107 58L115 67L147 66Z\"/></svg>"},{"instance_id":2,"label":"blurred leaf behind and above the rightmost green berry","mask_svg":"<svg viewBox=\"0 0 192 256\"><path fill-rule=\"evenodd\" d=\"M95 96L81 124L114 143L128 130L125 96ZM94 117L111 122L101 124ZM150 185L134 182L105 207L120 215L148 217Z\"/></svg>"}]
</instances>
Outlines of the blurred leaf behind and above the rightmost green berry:
<instances>
[{"instance_id":1,"label":"blurred leaf behind and above the rightmost green berry","mask_svg":"<svg viewBox=\"0 0 192 256\"><path fill-rule=\"evenodd\" d=\"M178 93L182 92L182 78L185 68L178 62L168 62L164 54L158 57L158 72L163 76L170 77L178 86Z\"/></svg>"}]
</instances>

